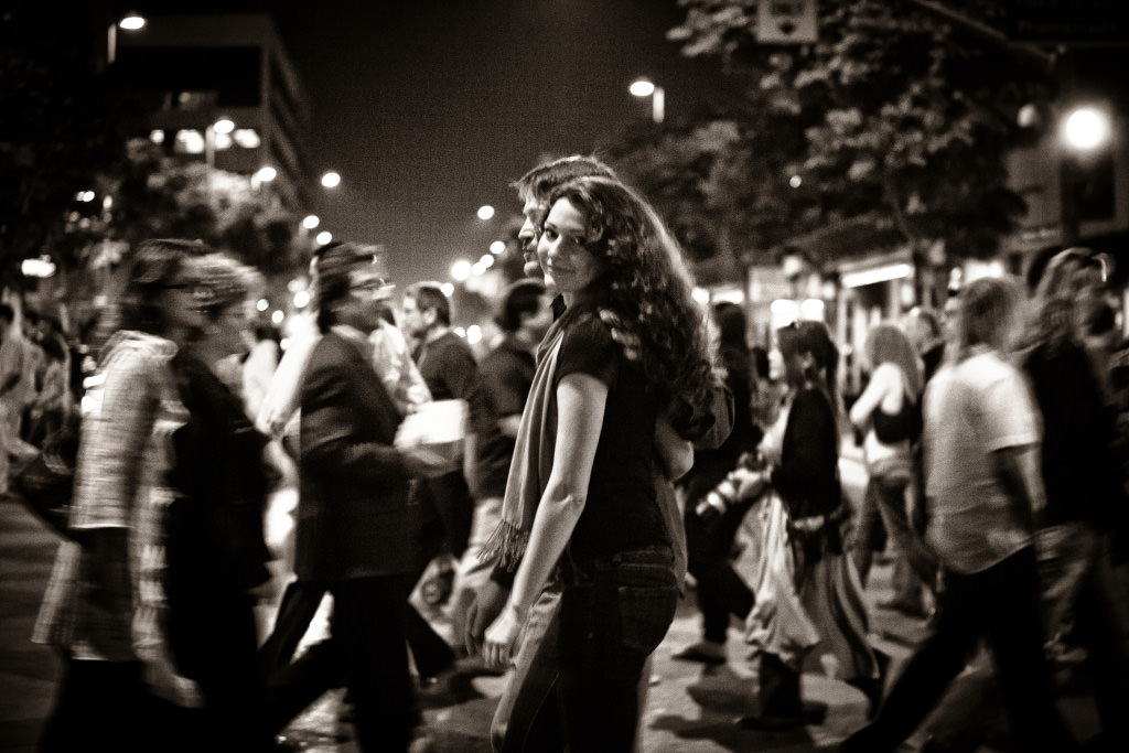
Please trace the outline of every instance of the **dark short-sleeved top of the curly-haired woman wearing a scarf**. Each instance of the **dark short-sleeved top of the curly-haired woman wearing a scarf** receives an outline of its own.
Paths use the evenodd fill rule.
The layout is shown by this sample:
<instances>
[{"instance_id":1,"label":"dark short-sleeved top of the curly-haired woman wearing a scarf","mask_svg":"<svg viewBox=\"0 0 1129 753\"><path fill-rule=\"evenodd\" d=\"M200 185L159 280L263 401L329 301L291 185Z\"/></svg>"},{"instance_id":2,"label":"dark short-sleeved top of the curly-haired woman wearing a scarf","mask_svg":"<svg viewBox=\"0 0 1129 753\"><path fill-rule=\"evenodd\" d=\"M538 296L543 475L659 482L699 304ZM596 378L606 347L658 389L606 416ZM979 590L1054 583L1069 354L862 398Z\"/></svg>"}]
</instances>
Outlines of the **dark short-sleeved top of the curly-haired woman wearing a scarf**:
<instances>
[{"instance_id":1,"label":"dark short-sleeved top of the curly-haired woman wearing a scarf","mask_svg":"<svg viewBox=\"0 0 1129 753\"><path fill-rule=\"evenodd\" d=\"M655 499L657 401L648 395L642 369L623 358L595 309L569 308L553 389L570 374L607 385L607 404L588 483L588 500L569 542L575 562L589 562L645 546L671 545ZM559 429L558 429L559 432Z\"/></svg>"}]
</instances>

